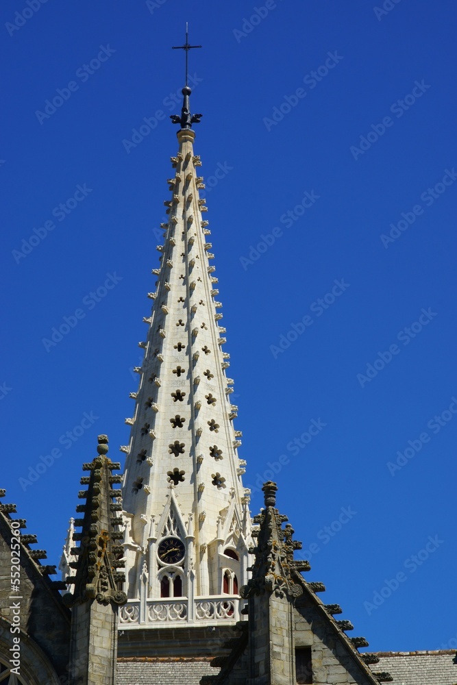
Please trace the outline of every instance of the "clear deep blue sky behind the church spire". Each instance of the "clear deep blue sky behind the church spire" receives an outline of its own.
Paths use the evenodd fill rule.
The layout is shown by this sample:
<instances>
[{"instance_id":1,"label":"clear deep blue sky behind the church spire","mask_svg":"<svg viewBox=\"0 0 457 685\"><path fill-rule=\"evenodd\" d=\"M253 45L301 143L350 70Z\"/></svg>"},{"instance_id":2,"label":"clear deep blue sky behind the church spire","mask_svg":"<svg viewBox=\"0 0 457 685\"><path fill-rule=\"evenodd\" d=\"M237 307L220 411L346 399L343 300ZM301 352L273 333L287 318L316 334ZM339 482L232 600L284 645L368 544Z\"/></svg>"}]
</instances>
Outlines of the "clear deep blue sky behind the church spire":
<instances>
[{"instance_id":1,"label":"clear deep blue sky behind the church spire","mask_svg":"<svg viewBox=\"0 0 457 685\"><path fill-rule=\"evenodd\" d=\"M0 21L6 501L58 563L97 434L122 460L188 21L251 510L273 476L370 649L456 647L454 5L37 3Z\"/></svg>"}]
</instances>

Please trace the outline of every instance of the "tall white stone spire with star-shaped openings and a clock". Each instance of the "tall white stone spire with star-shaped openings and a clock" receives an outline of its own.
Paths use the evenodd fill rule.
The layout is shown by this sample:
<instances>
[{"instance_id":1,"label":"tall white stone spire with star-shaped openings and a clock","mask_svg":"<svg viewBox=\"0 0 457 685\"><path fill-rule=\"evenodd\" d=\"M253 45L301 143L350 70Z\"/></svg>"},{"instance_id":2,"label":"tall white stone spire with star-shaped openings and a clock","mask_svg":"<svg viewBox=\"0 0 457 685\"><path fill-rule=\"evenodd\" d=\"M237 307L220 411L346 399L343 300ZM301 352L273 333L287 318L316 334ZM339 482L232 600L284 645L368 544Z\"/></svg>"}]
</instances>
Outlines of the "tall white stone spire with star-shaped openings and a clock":
<instances>
[{"instance_id":1,"label":"tall white stone spire with star-shaped openings and a clock","mask_svg":"<svg viewBox=\"0 0 457 685\"><path fill-rule=\"evenodd\" d=\"M183 94L188 105L190 88ZM234 620L238 588L247 582L249 497L237 453L241 434L233 427L233 381L225 375L229 355L222 351L210 231L202 219L201 162L193 130L182 125L177 138L165 202L169 223L162 225L156 290L149 293L153 308L140 343L145 360L137 369L138 391L131 393L135 410L126 420L132 432L121 448L127 453L129 601L120 616L126 628Z\"/></svg>"}]
</instances>

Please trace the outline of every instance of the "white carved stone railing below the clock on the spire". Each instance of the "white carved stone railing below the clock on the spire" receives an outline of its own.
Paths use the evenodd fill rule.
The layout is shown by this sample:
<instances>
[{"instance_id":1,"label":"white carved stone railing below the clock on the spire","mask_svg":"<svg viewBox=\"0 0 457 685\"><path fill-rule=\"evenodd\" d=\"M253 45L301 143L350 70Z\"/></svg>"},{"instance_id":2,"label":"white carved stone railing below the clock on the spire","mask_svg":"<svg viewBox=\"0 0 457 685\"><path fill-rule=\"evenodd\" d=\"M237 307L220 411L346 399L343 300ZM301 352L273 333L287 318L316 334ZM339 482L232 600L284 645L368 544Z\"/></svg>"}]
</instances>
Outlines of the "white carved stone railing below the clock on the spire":
<instances>
[{"instance_id":1,"label":"white carved stone railing below the clock on the spire","mask_svg":"<svg viewBox=\"0 0 457 685\"><path fill-rule=\"evenodd\" d=\"M240 620L238 595L219 597L188 597L173 599L128 599L119 608L119 629L162 627L163 625L194 625L235 623Z\"/></svg>"}]
</instances>

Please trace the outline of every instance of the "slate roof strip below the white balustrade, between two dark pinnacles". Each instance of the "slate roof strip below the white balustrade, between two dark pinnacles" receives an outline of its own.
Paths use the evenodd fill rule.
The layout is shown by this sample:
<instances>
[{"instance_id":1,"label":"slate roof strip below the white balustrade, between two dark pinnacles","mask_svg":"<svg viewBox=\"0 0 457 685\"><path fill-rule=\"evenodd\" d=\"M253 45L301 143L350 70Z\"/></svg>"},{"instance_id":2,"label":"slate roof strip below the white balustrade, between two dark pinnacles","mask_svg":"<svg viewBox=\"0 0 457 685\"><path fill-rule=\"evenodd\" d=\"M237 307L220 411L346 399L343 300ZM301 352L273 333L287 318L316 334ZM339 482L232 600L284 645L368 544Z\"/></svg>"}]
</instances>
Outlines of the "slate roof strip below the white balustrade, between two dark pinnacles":
<instances>
[{"instance_id":1,"label":"slate roof strip below the white balustrade, between two dark pinnacles","mask_svg":"<svg viewBox=\"0 0 457 685\"><path fill-rule=\"evenodd\" d=\"M215 675L208 658L134 657L117 660L117 685L199 685Z\"/></svg>"}]
</instances>

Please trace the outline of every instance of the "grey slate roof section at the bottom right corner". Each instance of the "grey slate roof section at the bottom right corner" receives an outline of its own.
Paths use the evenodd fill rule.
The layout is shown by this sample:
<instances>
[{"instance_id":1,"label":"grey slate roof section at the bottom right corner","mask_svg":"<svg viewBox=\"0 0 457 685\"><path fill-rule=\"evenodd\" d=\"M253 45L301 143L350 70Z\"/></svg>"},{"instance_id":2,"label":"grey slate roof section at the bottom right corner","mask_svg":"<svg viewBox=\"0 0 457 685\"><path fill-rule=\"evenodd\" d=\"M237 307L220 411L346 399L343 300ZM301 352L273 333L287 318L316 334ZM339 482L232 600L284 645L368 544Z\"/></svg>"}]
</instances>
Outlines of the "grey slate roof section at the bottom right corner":
<instances>
[{"instance_id":1,"label":"grey slate roof section at the bottom right corner","mask_svg":"<svg viewBox=\"0 0 457 685\"><path fill-rule=\"evenodd\" d=\"M384 651L378 652L376 671L388 671L392 685L456 685L456 651Z\"/></svg>"}]
</instances>

